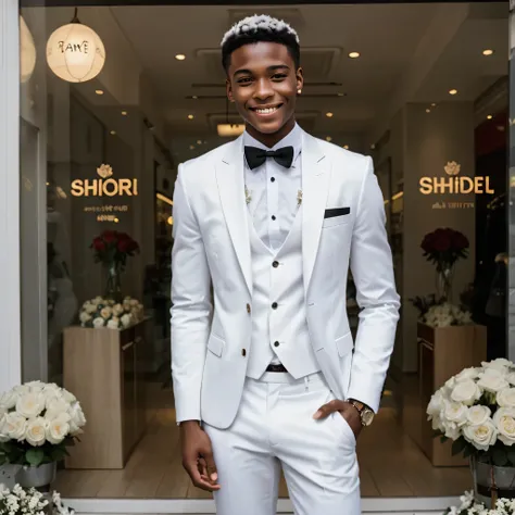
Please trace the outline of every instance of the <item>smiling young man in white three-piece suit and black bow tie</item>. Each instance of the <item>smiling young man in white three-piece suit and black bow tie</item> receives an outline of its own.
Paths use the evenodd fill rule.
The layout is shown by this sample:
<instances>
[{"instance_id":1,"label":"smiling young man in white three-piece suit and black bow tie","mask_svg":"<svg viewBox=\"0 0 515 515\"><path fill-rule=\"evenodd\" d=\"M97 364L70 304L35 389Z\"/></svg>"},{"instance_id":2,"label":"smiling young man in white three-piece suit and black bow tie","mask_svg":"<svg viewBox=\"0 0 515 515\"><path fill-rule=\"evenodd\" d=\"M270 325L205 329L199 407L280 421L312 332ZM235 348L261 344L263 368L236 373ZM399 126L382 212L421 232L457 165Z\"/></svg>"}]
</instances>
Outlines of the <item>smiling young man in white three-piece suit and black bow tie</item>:
<instances>
[{"instance_id":1,"label":"smiling young man in white three-piece suit and black bow tie","mask_svg":"<svg viewBox=\"0 0 515 515\"><path fill-rule=\"evenodd\" d=\"M242 20L222 56L246 131L179 165L174 193L183 464L218 515L274 515L280 469L296 514L354 515L356 438L379 407L399 318L382 196L369 158L296 123L289 25Z\"/></svg>"}]
</instances>

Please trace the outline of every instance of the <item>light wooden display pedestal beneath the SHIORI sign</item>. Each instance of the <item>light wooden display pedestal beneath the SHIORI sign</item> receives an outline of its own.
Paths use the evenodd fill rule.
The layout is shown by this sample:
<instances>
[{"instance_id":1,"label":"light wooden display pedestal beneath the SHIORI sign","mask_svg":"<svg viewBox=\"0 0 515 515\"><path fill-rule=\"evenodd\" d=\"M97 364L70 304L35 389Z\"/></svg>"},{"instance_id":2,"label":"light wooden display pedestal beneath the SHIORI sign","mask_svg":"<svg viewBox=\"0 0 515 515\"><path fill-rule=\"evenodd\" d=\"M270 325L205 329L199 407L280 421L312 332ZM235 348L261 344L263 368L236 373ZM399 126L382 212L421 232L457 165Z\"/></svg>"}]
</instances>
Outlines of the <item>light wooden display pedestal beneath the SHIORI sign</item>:
<instances>
[{"instance_id":1,"label":"light wooden display pedestal beneath the SHIORI sign","mask_svg":"<svg viewBox=\"0 0 515 515\"><path fill-rule=\"evenodd\" d=\"M86 416L66 468L124 468L146 425L146 318L123 330L64 329L64 388Z\"/></svg>"}]
</instances>

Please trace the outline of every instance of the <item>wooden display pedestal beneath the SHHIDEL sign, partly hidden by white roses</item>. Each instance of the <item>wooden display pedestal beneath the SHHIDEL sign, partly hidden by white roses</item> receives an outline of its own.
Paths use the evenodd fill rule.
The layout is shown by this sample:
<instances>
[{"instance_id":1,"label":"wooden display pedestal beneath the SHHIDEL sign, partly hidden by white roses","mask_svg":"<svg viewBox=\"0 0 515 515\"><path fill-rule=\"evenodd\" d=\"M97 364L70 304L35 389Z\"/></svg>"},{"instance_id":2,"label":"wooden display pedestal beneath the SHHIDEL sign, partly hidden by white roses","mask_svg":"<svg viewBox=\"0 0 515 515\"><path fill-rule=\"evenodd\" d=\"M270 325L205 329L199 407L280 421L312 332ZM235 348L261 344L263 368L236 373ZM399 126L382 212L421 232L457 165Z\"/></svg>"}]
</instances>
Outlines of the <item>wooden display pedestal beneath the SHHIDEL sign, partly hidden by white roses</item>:
<instances>
[{"instance_id":1,"label":"wooden display pedestal beneath the SHHIDEL sign, partly hidden by white roses","mask_svg":"<svg viewBox=\"0 0 515 515\"><path fill-rule=\"evenodd\" d=\"M466 466L468 461L451 453L452 441L435 438L426 409L431 395L448 379L464 368L479 366L487 360L485 326L430 327L418 323L419 398L422 402L420 447L435 466Z\"/></svg>"}]
</instances>

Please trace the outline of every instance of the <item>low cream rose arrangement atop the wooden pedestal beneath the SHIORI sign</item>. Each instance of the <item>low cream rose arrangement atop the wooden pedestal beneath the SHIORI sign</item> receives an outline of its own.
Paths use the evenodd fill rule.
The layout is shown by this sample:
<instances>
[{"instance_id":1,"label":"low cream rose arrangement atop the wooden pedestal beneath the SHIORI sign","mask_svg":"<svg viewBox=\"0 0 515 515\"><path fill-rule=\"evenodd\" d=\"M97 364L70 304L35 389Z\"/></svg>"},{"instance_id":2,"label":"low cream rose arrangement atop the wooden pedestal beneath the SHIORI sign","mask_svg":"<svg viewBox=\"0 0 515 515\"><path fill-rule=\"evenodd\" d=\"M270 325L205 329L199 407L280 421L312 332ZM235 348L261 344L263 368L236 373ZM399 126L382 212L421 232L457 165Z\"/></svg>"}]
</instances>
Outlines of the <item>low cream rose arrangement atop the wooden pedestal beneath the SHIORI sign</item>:
<instances>
[{"instance_id":1,"label":"low cream rose arrangement atop the wooden pedestal beneath the SHIORI sign","mask_svg":"<svg viewBox=\"0 0 515 515\"><path fill-rule=\"evenodd\" d=\"M125 329L140 322L143 314L143 305L128 296L120 303L96 297L83 304L78 317L83 327Z\"/></svg>"}]
</instances>

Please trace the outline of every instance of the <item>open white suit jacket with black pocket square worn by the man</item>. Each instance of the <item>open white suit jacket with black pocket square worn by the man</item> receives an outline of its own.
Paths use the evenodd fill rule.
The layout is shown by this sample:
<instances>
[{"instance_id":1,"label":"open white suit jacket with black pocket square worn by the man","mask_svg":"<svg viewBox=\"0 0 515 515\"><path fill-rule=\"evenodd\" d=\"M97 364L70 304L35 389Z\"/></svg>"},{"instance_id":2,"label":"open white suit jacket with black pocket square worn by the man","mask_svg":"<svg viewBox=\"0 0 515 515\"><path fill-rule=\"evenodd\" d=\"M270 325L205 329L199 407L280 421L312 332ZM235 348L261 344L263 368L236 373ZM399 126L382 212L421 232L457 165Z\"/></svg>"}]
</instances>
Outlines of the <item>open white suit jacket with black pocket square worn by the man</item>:
<instances>
[{"instance_id":1,"label":"open white suit jacket with black pocket square worn by the man","mask_svg":"<svg viewBox=\"0 0 515 515\"><path fill-rule=\"evenodd\" d=\"M377 411L400 305L382 194L370 158L304 131L302 138L302 260L311 344L337 398L354 398ZM178 168L171 310L177 422L226 428L241 399L252 352L243 159L239 137ZM362 309L355 342L346 311L349 265Z\"/></svg>"}]
</instances>

